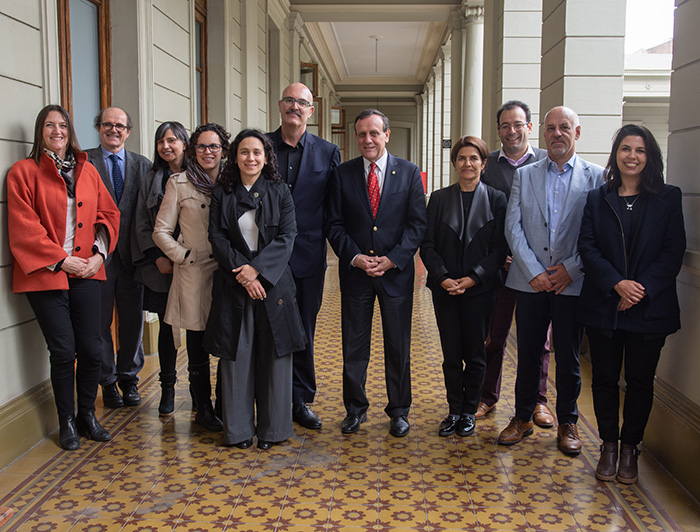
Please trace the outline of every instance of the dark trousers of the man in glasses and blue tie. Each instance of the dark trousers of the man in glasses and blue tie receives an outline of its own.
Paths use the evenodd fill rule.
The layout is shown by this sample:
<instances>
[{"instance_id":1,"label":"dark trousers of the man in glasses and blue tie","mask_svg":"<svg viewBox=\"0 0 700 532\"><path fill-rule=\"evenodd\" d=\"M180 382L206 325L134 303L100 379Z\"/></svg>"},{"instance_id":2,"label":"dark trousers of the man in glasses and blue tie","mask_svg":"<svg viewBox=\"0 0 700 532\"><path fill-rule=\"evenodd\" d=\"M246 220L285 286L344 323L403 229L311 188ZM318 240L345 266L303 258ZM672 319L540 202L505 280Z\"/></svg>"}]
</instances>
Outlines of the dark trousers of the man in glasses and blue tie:
<instances>
[{"instance_id":1,"label":"dark trousers of the man in glasses and blue tie","mask_svg":"<svg viewBox=\"0 0 700 532\"><path fill-rule=\"evenodd\" d=\"M119 252L112 253L105 267L107 280L102 283L102 372L100 384L138 381L143 368L143 285L134 281L124 268ZM117 304L119 351L114 361L112 310Z\"/></svg>"}]
</instances>

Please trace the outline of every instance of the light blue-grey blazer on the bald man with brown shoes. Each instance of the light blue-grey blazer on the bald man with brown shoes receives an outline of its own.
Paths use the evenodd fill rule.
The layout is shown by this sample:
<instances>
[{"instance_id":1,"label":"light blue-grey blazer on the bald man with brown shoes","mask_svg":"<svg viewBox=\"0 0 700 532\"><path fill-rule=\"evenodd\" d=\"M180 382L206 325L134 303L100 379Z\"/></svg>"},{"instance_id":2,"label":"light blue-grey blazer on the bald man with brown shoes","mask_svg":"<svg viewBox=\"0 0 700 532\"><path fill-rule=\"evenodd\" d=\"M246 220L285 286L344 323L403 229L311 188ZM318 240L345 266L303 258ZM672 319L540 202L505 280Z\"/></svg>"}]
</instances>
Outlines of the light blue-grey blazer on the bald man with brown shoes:
<instances>
[{"instance_id":1,"label":"light blue-grey blazer on the bald man with brown shoes","mask_svg":"<svg viewBox=\"0 0 700 532\"><path fill-rule=\"evenodd\" d=\"M603 169L576 157L569 194L559 222L557 248L549 249L547 228L547 164L549 158L518 168L506 211L506 239L513 264L506 286L534 293L530 281L549 266L563 264L573 282L561 293L577 296L583 285L583 264L578 254L578 234L588 191L603 184Z\"/></svg>"}]
</instances>

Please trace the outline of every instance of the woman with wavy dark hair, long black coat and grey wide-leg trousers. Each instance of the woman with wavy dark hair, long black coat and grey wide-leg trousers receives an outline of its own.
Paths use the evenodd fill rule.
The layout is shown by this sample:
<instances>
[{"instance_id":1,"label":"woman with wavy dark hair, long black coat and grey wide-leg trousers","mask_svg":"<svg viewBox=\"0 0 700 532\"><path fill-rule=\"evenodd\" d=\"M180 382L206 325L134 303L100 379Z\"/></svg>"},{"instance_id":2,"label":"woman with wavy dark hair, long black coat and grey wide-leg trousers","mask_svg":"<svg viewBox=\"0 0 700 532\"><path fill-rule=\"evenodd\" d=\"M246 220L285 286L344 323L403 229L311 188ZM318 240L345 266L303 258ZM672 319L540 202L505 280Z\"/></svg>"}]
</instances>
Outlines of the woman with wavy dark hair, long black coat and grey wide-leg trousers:
<instances>
[{"instance_id":1,"label":"woman with wavy dark hair, long black coat and grey wide-leg trousers","mask_svg":"<svg viewBox=\"0 0 700 532\"><path fill-rule=\"evenodd\" d=\"M247 449L257 435L258 447L269 449L294 434L291 354L306 343L288 264L296 232L270 141L241 131L209 222L219 269L205 345L221 357L225 445Z\"/></svg>"}]
</instances>

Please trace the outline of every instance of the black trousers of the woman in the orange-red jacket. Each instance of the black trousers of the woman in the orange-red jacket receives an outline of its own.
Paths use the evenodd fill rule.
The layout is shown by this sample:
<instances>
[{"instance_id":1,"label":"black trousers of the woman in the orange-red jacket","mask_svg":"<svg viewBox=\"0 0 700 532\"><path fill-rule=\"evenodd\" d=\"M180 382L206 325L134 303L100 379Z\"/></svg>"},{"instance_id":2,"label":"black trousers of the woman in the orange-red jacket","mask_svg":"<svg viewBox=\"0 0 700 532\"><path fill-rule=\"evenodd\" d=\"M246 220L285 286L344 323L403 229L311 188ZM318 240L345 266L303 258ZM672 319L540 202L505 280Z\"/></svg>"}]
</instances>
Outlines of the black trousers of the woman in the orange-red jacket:
<instances>
[{"instance_id":1,"label":"black trousers of the woman in the orange-red jacket","mask_svg":"<svg viewBox=\"0 0 700 532\"><path fill-rule=\"evenodd\" d=\"M51 385L58 415L75 415L76 389L78 412L94 411L102 345L97 312L100 282L69 279L68 290L27 292L27 299L49 348Z\"/></svg>"}]
</instances>

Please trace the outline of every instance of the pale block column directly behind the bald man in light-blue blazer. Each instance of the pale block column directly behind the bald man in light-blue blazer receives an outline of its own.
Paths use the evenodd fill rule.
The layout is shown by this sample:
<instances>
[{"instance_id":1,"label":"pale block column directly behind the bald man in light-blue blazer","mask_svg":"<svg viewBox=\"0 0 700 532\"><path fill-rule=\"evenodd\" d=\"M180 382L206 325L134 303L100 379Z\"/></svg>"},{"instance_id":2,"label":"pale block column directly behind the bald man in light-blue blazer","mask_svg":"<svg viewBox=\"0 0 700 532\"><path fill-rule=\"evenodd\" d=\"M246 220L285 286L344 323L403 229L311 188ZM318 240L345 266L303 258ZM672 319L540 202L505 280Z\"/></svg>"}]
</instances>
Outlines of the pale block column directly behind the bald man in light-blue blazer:
<instances>
[{"instance_id":1,"label":"pale block column directly behind the bald man in light-blue blazer","mask_svg":"<svg viewBox=\"0 0 700 532\"><path fill-rule=\"evenodd\" d=\"M624 36L625 2L542 2L542 117L557 105L576 111L582 126L577 152L602 165L622 123Z\"/></svg>"}]
</instances>

